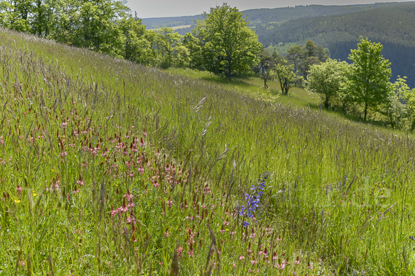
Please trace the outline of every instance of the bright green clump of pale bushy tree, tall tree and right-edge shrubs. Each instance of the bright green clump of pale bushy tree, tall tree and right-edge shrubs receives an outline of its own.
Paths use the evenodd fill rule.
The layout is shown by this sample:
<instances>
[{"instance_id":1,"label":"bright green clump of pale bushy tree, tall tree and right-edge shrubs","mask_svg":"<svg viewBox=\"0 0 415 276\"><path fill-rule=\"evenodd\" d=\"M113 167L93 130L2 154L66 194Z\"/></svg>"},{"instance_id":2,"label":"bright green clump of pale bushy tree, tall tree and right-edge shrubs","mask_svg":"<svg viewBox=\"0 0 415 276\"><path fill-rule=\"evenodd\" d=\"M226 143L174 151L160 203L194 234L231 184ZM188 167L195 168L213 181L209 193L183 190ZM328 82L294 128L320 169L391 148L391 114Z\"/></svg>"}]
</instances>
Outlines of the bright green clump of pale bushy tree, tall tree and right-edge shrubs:
<instances>
[{"instance_id":1,"label":"bright green clump of pale bushy tree, tall tree and right-edge shrubs","mask_svg":"<svg viewBox=\"0 0 415 276\"><path fill-rule=\"evenodd\" d=\"M382 45L361 39L349 60L326 62L309 67L306 90L316 92L324 101L343 112L357 112L367 120L378 112L392 128L415 129L415 89L407 86L407 78L391 79L391 63L381 55Z\"/></svg>"}]
</instances>

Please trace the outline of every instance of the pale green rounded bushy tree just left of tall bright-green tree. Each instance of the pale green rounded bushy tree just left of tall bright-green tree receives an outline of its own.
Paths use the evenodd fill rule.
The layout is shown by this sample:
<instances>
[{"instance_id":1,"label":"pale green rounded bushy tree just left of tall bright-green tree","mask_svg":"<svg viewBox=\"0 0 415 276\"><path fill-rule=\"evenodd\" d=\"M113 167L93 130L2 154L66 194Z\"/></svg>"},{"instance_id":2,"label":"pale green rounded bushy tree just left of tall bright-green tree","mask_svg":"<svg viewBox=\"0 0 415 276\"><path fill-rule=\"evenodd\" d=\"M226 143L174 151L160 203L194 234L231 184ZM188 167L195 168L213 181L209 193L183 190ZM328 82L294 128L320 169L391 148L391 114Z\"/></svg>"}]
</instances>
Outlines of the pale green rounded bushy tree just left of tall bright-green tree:
<instances>
[{"instance_id":1,"label":"pale green rounded bushy tree just left of tall bright-green tree","mask_svg":"<svg viewBox=\"0 0 415 276\"><path fill-rule=\"evenodd\" d=\"M331 99L337 97L345 85L347 68L346 61L335 59L310 66L306 89L317 93L324 101L324 107L329 108Z\"/></svg>"}]
</instances>

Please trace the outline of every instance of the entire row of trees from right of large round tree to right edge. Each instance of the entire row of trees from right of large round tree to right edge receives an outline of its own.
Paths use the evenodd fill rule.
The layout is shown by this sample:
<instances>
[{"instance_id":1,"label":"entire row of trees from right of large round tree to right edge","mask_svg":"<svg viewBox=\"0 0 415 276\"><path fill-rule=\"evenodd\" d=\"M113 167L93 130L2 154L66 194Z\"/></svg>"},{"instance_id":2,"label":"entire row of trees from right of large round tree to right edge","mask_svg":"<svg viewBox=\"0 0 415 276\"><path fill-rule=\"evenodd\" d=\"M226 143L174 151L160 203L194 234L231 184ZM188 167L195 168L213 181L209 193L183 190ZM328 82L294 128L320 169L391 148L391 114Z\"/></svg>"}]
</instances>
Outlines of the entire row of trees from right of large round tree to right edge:
<instances>
[{"instance_id":1,"label":"entire row of trees from right of large round tree to right edge","mask_svg":"<svg viewBox=\"0 0 415 276\"><path fill-rule=\"evenodd\" d=\"M350 50L349 61L330 59L322 46L308 40L291 46L283 57L274 49L262 48L259 63L253 68L264 88L267 81L279 82L282 95L293 86L303 86L317 94L322 107L361 116L365 121L376 113L392 128L415 130L415 88L407 77L391 82L391 63L382 56L382 44L360 39ZM271 48L272 50L272 48Z\"/></svg>"}]
</instances>

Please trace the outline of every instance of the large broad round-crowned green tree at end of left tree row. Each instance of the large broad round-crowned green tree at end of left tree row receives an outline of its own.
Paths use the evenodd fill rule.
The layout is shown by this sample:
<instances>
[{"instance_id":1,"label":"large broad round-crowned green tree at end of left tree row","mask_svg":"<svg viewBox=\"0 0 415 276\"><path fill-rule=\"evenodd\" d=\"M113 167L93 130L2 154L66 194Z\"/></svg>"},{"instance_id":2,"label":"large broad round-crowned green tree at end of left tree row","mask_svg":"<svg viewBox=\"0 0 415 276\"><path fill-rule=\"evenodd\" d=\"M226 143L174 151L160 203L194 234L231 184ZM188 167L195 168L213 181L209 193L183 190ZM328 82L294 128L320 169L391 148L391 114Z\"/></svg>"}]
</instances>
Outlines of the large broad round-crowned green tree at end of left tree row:
<instances>
[{"instance_id":1,"label":"large broad round-crowned green tree at end of left tree row","mask_svg":"<svg viewBox=\"0 0 415 276\"><path fill-rule=\"evenodd\" d=\"M249 74L257 63L262 44L237 8L226 3L210 9L208 17L199 21L194 36L203 45L203 65L206 70L224 74Z\"/></svg>"}]
</instances>

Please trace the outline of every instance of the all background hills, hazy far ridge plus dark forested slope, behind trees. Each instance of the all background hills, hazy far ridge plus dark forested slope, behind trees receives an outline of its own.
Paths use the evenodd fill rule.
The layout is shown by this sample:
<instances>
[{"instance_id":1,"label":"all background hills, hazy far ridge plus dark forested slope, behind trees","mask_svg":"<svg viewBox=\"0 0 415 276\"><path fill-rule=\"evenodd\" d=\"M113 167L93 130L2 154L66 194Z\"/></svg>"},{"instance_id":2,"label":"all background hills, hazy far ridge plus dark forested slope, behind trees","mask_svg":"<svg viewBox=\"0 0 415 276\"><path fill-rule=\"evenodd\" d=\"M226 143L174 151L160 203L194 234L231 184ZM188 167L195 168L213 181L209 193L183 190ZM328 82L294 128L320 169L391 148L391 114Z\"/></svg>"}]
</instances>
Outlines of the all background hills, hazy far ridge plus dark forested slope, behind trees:
<instances>
[{"instance_id":1,"label":"all background hills, hazy far ridge plus dark forested slope, behind trees","mask_svg":"<svg viewBox=\"0 0 415 276\"><path fill-rule=\"evenodd\" d=\"M375 3L351 6L295 6L293 8L245 10L250 28L258 34L265 47L279 46L284 52L307 39L329 48L330 56L346 60L350 49L356 48L360 37L382 43L382 54L392 63L392 81L398 75L407 76L408 84L415 87L415 2ZM147 29L162 26L181 28L185 34L194 27L190 17L163 17L142 19ZM290 44L288 44L290 43Z\"/></svg>"}]
</instances>

